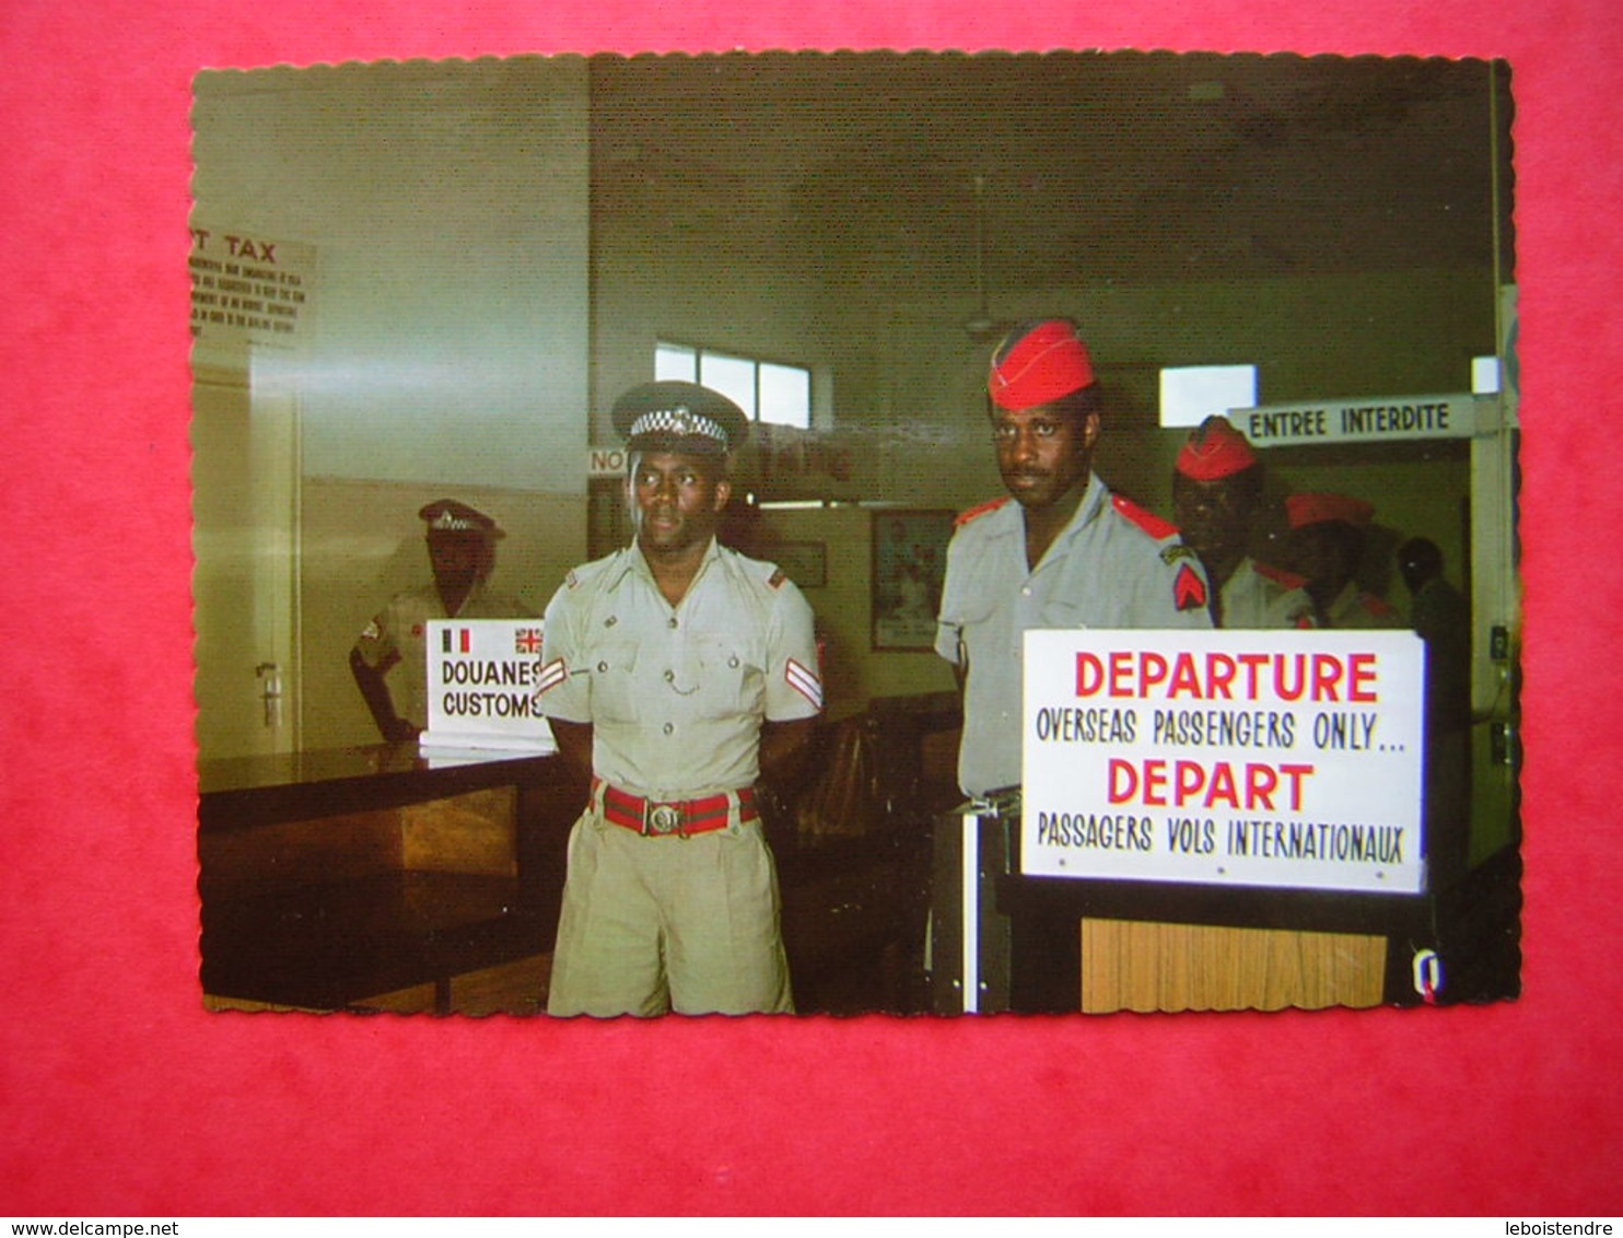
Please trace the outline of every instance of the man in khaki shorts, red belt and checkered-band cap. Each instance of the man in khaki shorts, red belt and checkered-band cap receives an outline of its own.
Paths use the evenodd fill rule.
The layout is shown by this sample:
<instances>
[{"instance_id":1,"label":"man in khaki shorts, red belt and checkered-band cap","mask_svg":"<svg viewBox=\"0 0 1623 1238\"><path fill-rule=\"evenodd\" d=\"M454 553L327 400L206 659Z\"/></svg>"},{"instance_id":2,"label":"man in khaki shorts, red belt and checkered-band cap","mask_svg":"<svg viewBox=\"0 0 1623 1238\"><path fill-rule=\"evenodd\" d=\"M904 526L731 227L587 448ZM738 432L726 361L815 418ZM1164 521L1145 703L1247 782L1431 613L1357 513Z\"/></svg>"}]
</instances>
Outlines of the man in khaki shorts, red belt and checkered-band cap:
<instances>
[{"instance_id":1,"label":"man in khaki shorts, red belt and checkered-band cap","mask_svg":"<svg viewBox=\"0 0 1623 1238\"><path fill-rule=\"evenodd\" d=\"M547 607L540 704L592 776L570 834L552 1014L790 1011L755 784L823 704L812 607L717 544L743 412L693 383L615 402L636 540Z\"/></svg>"}]
</instances>

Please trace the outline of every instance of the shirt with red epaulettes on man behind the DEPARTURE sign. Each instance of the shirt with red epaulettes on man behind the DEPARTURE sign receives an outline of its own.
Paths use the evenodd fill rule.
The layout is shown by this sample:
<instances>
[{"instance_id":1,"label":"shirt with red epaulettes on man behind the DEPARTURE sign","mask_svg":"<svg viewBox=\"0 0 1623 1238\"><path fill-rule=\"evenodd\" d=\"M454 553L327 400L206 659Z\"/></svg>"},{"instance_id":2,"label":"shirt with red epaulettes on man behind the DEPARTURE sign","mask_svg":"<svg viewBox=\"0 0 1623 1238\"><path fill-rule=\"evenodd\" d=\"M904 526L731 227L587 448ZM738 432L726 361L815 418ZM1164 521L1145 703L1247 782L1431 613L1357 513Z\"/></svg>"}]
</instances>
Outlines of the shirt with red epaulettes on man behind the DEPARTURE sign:
<instances>
[{"instance_id":1,"label":"shirt with red epaulettes on man behind the DEPARTURE sign","mask_svg":"<svg viewBox=\"0 0 1623 1238\"><path fill-rule=\"evenodd\" d=\"M1206 573L1177 531L1112 498L1097 475L1035 568L1024 509L959 518L946 550L936 652L967 664L958 780L985 795L1021 780L1022 643L1032 628L1209 628Z\"/></svg>"}]
</instances>

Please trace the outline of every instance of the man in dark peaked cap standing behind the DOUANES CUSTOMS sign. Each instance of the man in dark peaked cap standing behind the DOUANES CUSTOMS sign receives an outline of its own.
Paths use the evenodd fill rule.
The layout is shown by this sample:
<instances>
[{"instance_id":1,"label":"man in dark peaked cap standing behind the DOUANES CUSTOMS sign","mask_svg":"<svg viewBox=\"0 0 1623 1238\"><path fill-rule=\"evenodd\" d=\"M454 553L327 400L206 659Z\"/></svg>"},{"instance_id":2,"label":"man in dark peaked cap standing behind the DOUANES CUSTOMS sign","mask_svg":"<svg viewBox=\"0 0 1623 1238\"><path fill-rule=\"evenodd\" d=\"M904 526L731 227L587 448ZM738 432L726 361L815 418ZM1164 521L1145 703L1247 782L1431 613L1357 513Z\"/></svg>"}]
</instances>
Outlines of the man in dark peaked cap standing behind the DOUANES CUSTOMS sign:
<instances>
[{"instance_id":1,"label":"man in dark peaked cap standing behind the DOUANES CUSTOMS sign","mask_svg":"<svg viewBox=\"0 0 1623 1238\"><path fill-rule=\"evenodd\" d=\"M502 529L485 513L454 498L438 498L417 516L427 524L433 584L390 599L349 651L372 720L385 740L414 740L428 725L428 620L529 618L536 612L489 589Z\"/></svg>"}]
</instances>

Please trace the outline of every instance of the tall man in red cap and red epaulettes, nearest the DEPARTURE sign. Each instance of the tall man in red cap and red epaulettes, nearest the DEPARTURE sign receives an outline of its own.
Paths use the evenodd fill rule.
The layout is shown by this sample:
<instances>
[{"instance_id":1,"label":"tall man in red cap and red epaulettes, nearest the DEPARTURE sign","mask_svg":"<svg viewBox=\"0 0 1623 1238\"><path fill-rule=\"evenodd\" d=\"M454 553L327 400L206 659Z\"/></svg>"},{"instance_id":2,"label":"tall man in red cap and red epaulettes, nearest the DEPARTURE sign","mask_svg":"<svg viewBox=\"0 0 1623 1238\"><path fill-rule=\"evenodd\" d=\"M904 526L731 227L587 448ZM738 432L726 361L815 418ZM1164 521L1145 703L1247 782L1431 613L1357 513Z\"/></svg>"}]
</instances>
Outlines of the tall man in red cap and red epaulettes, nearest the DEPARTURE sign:
<instances>
[{"instance_id":1,"label":"tall man in red cap and red epaulettes, nearest the DEPARTURE sign","mask_svg":"<svg viewBox=\"0 0 1623 1238\"><path fill-rule=\"evenodd\" d=\"M1021 780L1029 628L1209 628L1206 574L1165 521L1092 472L1100 402L1065 318L1026 325L992 357L992 441L1010 496L958 518L936 652L964 686L958 777L984 797Z\"/></svg>"}]
</instances>

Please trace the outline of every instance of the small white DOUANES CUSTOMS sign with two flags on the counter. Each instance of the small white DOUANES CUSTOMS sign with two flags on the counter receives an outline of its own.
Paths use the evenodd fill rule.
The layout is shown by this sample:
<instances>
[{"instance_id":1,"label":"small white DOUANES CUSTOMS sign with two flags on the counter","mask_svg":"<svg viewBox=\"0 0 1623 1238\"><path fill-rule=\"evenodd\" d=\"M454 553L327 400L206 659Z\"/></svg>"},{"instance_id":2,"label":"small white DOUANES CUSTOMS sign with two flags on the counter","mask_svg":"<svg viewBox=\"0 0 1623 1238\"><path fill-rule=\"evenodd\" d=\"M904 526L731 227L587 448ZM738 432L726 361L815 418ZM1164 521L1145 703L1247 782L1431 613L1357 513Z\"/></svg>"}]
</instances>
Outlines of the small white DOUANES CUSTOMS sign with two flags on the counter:
<instances>
[{"instance_id":1,"label":"small white DOUANES CUSTOMS sign with two flags on the counter","mask_svg":"<svg viewBox=\"0 0 1623 1238\"><path fill-rule=\"evenodd\" d=\"M540 620L428 620L425 754L552 753L539 707Z\"/></svg>"}]
</instances>

